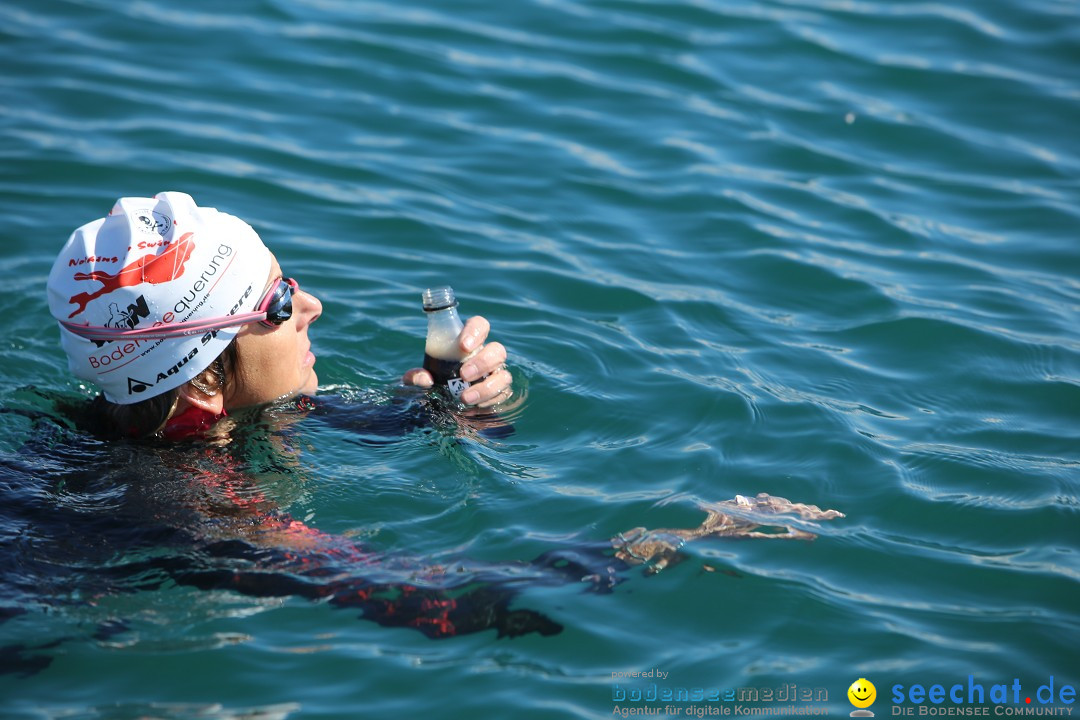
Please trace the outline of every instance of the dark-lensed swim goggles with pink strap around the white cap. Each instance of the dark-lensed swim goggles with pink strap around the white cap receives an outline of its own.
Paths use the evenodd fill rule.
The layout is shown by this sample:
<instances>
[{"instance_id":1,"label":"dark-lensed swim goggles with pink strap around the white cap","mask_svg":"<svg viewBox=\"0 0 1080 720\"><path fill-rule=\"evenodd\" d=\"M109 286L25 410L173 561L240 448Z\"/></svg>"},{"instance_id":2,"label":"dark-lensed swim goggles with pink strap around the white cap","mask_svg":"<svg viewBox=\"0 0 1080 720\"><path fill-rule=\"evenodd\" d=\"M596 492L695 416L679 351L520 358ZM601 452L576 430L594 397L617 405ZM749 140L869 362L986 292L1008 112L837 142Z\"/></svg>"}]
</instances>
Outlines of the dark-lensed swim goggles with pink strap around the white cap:
<instances>
[{"instance_id":1,"label":"dark-lensed swim goggles with pink strap around the white cap","mask_svg":"<svg viewBox=\"0 0 1080 720\"><path fill-rule=\"evenodd\" d=\"M255 305L253 312L235 313L222 317L203 317L183 323L137 328L78 325L65 322L60 322L60 325L81 338L98 342L109 340L167 340L170 338L187 338L192 335L201 335L238 325L251 325L252 323L274 328L293 316L293 296L299 289L299 283L292 277L279 277L262 295L262 298Z\"/></svg>"}]
</instances>

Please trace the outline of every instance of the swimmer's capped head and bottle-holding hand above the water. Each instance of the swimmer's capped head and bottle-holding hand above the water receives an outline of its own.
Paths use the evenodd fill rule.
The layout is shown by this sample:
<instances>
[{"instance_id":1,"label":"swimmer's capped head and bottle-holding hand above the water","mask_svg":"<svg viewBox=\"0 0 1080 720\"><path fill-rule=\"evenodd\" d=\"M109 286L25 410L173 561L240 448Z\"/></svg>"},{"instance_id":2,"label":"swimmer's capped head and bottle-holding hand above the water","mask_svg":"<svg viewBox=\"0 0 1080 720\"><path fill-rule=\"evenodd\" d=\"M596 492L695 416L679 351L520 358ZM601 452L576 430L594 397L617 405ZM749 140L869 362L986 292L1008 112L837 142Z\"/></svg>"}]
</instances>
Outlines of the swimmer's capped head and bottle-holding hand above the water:
<instances>
[{"instance_id":1,"label":"swimmer's capped head and bottle-holding hand above the water","mask_svg":"<svg viewBox=\"0 0 1080 720\"><path fill-rule=\"evenodd\" d=\"M313 394L308 329L319 299L285 276L237 217L162 192L122 198L72 233L49 275L49 307L70 370L102 390L99 430L175 439L210 431L239 408ZM507 352L472 317L458 342L476 351L461 402L511 394ZM430 386L414 368L405 384Z\"/></svg>"}]
</instances>

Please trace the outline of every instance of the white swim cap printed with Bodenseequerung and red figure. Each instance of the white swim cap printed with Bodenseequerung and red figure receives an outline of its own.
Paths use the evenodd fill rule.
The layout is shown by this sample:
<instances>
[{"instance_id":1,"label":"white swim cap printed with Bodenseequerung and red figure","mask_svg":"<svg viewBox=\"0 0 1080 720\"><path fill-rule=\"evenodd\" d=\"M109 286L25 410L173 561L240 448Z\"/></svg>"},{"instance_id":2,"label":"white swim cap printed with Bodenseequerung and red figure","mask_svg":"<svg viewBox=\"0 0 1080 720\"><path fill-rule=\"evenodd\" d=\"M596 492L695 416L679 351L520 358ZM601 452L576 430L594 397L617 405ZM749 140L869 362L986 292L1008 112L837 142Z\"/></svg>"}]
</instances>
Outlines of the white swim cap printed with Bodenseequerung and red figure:
<instances>
[{"instance_id":1,"label":"white swim cap printed with Bodenseequerung and red figure","mask_svg":"<svg viewBox=\"0 0 1080 720\"><path fill-rule=\"evenodd\" d=\"M258 303L270 266L251 226L186 193L121 198L71 233L49 274L49 310L59 323L121 331L234 315ZM238 331L103 341L62 324L60 345L76 377L130 405L199 375Z\"/></svg>"}]
</instances>

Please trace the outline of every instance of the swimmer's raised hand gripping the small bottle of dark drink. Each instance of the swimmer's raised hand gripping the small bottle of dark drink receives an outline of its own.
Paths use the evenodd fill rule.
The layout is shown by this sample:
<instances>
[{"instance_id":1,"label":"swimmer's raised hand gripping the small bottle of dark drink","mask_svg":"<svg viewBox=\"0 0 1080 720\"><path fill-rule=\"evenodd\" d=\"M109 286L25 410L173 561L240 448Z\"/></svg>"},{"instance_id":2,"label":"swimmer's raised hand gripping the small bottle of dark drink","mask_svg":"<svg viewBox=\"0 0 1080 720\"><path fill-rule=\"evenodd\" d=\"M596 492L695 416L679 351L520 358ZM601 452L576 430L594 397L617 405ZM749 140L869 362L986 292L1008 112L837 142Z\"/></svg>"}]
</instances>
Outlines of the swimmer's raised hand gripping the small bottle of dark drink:
<instances>
[{"instance_id":1,"label":"swimmer's raised hand gripping the small bottle of dark drink","mask_svg":"<svg viewBox=\"0 0 1080 720\"><path fill-rule=\"evenodd\" d=\"M472 383L461 393L461 402L465 405L490 407L510 398L513 390L513 377L505 367L507 349L500 342L484 344L491 325L480 315L470 317L458 336L458 347L467 353L473 353L461 365L461 379ZM423 368L415 367L402 376L406 385L431 388L434 379Z\"/></svg>"}]
</instances>

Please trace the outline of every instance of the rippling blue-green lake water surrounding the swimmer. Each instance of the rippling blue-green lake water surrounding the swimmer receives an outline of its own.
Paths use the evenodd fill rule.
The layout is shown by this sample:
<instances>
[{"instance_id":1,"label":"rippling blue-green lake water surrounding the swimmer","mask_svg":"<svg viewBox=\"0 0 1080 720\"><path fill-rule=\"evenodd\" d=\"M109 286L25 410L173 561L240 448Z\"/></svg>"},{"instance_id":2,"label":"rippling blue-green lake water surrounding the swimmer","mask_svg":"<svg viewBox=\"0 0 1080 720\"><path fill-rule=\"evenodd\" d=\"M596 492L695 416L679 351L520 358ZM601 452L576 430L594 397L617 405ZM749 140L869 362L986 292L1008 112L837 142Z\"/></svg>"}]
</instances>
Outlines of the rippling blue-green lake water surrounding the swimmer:
<instances>
[{"instance_id":1,"label":"rippling blue-green lake water surrounding the swimmer","mask_svg":"<svg viewBox=\"0 0 1080 720\"><path fill-rule=\"evenodd\" d=\"M393 394L435 282L510 349L510 438L294 427L253 481L320 530L501 562L735 493L847 514L526 592L548 638L58 575L3 598L5 653L59 641L4 717L602 718L650 668L840 716L865 677L882 717L896 683L1080 681L1075 1L8 0L0 57L5 405L87 392L43 290L68 233L183 190L322 298L328 391ZM43 498L107 512L40 452ZM0 538L9 580L51 561Z\"/></svg>"}]
</instances>

